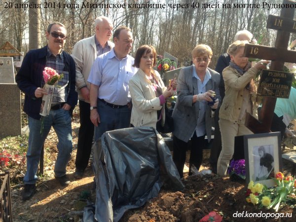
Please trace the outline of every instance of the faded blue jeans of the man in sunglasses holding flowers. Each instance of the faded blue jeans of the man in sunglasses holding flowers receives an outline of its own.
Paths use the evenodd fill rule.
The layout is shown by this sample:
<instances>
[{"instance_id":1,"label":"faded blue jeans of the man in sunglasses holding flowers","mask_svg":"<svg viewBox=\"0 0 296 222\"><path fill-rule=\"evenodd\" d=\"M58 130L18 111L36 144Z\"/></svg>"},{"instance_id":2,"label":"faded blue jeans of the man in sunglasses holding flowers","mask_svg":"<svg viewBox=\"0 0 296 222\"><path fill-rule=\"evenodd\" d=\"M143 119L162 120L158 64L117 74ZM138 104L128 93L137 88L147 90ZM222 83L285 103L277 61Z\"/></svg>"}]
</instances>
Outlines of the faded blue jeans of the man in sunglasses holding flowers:
<instances>
[{"instance_id":1,"label":"faded blue jeans of the man in sunglasses holding flowers","mask_svg":"<svg viewBox=\"0 0 296 222\"><path fill-rule=\"evenodd\" d=\"M66 166L71 158L72 152L72 127L69 111L63 109L50 111L49 115L43 117L43 132L41 130L42 118L40 120L29 116L29 146L27 151L27 172L24 184L36 184L37 169L40 161L40 153L44 141L51 126L58 136L58 156L54 167L56 177L66 175Z\"/></svg>"}]
</instances>

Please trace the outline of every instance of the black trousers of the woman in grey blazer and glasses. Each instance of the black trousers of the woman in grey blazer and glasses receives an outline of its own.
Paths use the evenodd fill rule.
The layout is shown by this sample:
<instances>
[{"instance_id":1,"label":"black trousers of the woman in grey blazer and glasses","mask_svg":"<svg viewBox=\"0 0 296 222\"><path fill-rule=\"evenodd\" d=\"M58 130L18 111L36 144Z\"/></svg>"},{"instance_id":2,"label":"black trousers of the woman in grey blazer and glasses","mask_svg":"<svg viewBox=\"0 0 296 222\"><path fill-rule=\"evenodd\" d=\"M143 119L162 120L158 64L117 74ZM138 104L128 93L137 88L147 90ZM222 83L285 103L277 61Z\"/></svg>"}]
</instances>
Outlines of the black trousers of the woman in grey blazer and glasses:
<instances>
[{"instance_id":1,"label":"black trousers of the woman in grey blazer and glasses","mask_svg":"<svg viewBox=\"0 0 296 222\"><path fill-rule=\"evenodd\" d=\"M173 160L178 169L180 177L183 177L183 169L186 160L186 150L188 147L188 143L180 140L175 135L173 137L174 149L173 149ZM191 174L191 167L194 165L197 170L202 162L203 157L203 148L205 147L205 135L201 137L196 136L196 132L191 138L191 146L190 146L190 159L189 159L189 175Z\"/></svg>"}]
</instances>

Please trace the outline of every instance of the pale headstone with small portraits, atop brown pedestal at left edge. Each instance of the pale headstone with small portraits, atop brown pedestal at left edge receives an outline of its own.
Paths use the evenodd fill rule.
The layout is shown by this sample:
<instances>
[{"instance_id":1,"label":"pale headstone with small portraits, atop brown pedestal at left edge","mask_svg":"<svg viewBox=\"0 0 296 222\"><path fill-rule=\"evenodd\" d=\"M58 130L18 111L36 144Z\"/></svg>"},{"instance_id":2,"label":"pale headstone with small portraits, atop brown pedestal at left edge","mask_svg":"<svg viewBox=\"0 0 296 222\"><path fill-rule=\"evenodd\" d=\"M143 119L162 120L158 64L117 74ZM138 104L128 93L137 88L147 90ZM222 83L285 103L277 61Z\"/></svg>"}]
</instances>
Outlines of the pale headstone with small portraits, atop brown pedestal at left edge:
<instances>
[{"instance_id":1,"label":"pale headstone with small portraits, atop brown pedestal at left edge","mask_svg":"<svg viewBox=\"0 0 296 222\"><path fill-rule=\"evenodd\" d=\"M15 83L12 57L0 57L0 83Z\"/></svg>"}]
</instances>

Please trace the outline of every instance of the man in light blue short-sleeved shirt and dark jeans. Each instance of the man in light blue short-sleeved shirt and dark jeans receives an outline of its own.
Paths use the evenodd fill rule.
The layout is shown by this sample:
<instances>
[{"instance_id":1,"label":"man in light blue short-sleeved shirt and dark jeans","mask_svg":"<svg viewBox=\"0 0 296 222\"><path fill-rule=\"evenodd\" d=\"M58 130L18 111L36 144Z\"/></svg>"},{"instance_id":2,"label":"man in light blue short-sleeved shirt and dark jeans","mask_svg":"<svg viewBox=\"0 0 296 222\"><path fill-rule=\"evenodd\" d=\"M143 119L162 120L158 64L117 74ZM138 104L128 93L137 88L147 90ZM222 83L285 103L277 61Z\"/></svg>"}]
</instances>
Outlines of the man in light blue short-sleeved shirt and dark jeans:
<instances>
[{"instance_id":1,"label":"man in light blue short-sleeved shirt and dark jeans","mask_svg":"<svg viewBox=\"0 0 296 222\"><path fill-rule=\"evenodd\" d=\"M114 48L100 55L90 71L90 119L95 125L95 141L106 131L130 126L131 98L128 82L137 72L132 67L133 35L121 26L113 35Z\"/></svg>"}]
</instances>

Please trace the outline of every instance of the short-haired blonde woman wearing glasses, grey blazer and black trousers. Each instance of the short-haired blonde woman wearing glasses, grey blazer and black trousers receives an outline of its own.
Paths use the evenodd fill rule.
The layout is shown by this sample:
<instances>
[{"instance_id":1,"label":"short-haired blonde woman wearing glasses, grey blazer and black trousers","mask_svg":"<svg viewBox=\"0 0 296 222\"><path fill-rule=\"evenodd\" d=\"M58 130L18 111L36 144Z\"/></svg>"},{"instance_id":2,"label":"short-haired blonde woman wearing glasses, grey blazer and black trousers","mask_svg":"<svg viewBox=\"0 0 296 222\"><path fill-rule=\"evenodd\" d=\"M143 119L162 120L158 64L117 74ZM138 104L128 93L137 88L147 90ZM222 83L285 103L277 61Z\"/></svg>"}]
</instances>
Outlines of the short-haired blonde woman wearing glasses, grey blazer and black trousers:
<instances>
[{"instance_id":1,"label":"short-haired blonde woman wearing glasses, grey blazer and black trousers","mask_svg":"<svg viewBox=\"0 0 296 222\"><path fill-rule=\"evenodd\" d=\"M191 139L189 175L192 167L197 170L202 162L205 136L211 140L212 109L217 109L219 100L220 74L208 68L213 55L210 46L197 45L192 51L193 65L180 71L178 99L173 111L173 160L183 177L188 142ZM216 94L215 99L214 94ZM211 102L210 104L208 102Z\"/></svg>"}]
</instances>

